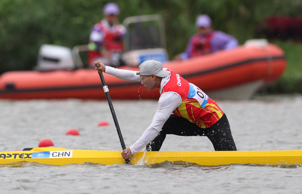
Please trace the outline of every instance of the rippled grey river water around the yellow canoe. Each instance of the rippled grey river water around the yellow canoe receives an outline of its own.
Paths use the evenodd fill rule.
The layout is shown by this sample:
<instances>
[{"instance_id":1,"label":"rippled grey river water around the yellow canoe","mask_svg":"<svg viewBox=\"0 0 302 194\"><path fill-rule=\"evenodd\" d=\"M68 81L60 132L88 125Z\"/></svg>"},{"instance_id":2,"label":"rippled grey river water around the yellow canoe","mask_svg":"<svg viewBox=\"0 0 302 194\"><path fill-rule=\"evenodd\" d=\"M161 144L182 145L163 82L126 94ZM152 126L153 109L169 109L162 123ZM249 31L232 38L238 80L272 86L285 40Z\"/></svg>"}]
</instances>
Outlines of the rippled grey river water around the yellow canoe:
<instances>
[{"instance_id":1,"label":"rippled grey river water around the yellow canoe","mask_svg":"<svg viewBox=\"0 0 302 194\"><path fill-rule=\"evenodd\" d=\"M302 149L302 96L264 96L217 101L226 113L238 150ZM155 100L113 100L126 146L152 121ZM0 100L0 151L38 147L121 150L107 101ZM98 127L101 121L109 126ZM71 128L79 136L66 136ZM161 150L214 150L207 137L169 135ZM153 165L94 163L52 166L0 165L1 193L301 193L300 165L207 167L163 162Z\"/></svg>"}]
</instances>

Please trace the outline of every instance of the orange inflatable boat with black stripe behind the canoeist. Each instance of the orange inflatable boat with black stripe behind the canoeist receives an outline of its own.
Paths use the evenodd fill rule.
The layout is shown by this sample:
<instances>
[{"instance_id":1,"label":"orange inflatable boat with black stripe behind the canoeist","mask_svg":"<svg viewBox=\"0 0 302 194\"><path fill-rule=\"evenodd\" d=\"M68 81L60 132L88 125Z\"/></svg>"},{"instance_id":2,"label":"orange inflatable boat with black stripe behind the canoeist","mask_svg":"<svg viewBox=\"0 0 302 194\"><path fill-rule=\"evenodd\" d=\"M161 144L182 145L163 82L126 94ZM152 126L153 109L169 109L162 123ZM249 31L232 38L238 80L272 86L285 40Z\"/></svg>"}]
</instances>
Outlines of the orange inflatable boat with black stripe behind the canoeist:
<instances>
[{"instance_id":1,"label":"orange inflatable boat with black stripe behind the canoeist","mask_svg":"<svg viewBox=\"0 0 302 194\"><path fill-rule=\"evenodd\" d=\"M283 50L239 46L163 66L194 83L213 99L248 99L268 86L286 68ZM138 71L138 67L120 66ZM157 99L159 89L148 91L139 82L126 82L104 73L112 99ZM12 71L0 76L1 99L106 99L95 69Z\"/></svg>"}]
</instances>

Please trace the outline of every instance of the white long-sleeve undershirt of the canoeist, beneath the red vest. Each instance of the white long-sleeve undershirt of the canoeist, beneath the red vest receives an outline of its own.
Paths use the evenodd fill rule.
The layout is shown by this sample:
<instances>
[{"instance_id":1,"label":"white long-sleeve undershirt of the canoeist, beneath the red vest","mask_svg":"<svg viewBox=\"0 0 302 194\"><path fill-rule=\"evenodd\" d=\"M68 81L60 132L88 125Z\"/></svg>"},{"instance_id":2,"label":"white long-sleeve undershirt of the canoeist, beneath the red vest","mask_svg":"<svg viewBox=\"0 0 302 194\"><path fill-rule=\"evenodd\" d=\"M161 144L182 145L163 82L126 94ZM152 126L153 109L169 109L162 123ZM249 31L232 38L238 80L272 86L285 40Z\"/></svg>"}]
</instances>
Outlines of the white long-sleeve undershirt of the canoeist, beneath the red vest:
<instances>
[{"instance_id":1,"label":"white long-sleeve undershirt of the canoeist, beneath the red vest","mask_svg":"<svg viewBox=\"0 0 302 194\"><path fill-rule=\"evenodd\" d=\"M110 66L106 66L105 73L113 75L119 79L123 79L125 81L142 81L140 75L136 75L136 71L120 70ZM165 84L169 80L170 75L162 78L159 90L160 93L162 91L162 87L165 86ZM174 92L165 92L159 97L158 108L153 117L152 123L146 129L143 135L132 146L130 146L132 154L135 154L144 147L146 147L146 145L149 144L159 134L159 131L162 130L162 126L168 120L169 116L175 110L175 108L177 108L181 104L181 102L182 98L180 97L180 95Z\"/></svg>"}]
</instances>

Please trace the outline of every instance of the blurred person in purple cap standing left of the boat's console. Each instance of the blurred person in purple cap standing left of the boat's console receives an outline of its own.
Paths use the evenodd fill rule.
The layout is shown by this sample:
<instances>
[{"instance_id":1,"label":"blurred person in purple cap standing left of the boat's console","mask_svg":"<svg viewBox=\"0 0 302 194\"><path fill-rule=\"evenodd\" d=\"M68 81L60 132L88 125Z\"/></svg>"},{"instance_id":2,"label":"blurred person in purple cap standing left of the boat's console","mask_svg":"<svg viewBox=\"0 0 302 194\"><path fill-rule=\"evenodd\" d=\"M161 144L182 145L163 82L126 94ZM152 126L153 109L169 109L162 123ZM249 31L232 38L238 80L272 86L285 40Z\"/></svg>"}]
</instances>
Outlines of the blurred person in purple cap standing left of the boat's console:
<instances>
[{"instance_id":1,"label":"blurred person in purple cap standing left of the boat's console","mask_svg":"<svg viewBox=\"0 0 302 194\"><path fill-rule=\"evenodd\" d=\"M123 37L126 28L118 24L120 9L116 3L107 3L103 8L104 18L91 29L88 43L88 65L102 60L108 66L121 65L121 53L124 50Z\"/></svg>"}]
</instances>

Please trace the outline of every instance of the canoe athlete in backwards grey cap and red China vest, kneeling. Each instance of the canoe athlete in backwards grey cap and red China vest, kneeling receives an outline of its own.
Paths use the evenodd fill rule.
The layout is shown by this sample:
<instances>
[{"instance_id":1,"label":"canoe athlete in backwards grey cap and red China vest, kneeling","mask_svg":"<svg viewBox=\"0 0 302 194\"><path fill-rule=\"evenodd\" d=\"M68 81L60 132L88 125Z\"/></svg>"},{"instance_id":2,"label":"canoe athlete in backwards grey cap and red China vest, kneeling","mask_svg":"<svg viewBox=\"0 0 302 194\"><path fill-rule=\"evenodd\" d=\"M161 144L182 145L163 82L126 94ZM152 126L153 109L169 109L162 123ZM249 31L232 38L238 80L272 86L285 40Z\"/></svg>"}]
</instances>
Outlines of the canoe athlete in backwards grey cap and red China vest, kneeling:
<instances>
[{"instance_id":1,"label":"canoe athlete in backwards grey cap and red China vest, kneeling","mask_svg":"<svg viewBox=\"0 0 302 194\"><path fill-rule=\"evenodd\" d=\"M94 64L96 70L141 82L148 90L159 88L153 121L139 140L122 151L124 160L145 146L147 151L159 151L167 134L207 136L216 151L236 151L229 121L217 103L178 73L162 68L161 62L147 60L140 64L139 72L105 66L100 60Z\"/></svg>"}]
</instances>

